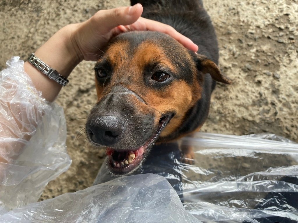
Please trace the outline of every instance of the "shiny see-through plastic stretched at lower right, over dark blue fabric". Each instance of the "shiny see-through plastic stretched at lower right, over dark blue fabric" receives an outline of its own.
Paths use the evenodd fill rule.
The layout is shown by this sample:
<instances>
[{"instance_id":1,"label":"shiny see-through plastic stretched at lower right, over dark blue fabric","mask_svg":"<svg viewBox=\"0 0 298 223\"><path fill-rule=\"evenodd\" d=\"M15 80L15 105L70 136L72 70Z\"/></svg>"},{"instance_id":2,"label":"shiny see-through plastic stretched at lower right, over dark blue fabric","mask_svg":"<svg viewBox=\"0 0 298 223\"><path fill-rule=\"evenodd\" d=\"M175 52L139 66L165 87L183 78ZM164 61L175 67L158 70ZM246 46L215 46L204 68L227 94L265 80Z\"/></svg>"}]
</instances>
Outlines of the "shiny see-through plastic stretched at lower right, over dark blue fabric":
<instances>
[{"instance_id":1,"label":"shiny see-through plastic stretched at lower right, over dark blue fabric","mask_svg":"<svg viewBox=\"0 0 298 223\"><path fill-rule=\"evenodd\" d=\"M164 176L198 220L298 222L298 144L274 134L208 133L179 144L193 147L193 165L181 161L178 143L168 143L155 146L136 174ZM103 165L94 184L112 178Z\"/></svg>"}]
</instances>

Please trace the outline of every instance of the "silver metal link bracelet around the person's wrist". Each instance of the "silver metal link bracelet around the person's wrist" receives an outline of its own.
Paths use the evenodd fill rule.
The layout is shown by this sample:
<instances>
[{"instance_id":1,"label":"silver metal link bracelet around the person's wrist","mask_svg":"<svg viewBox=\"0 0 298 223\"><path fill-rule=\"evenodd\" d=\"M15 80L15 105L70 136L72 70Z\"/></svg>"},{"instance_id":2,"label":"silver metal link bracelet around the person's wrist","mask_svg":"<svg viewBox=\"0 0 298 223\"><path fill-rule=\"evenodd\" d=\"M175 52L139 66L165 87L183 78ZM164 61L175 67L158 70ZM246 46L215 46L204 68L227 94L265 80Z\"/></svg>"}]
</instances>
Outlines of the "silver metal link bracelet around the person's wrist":
<instances>
[{"instance_id":1,"label":"silver metal link bracelet around the person's wrist","mask_svg":"<svg viewBox=\"0 0 298 223\"><path fill-rule=\"evenodd\" d=\"M41 59L37 58L34 53L28 57L28 62L30 62L34 67L36 67L50 79L56 81L62 86L66 86L66 84L68 84L69 80L58 73L57 70L54 70L53 68L46 65Z\"/></svg>"}]
</instances>

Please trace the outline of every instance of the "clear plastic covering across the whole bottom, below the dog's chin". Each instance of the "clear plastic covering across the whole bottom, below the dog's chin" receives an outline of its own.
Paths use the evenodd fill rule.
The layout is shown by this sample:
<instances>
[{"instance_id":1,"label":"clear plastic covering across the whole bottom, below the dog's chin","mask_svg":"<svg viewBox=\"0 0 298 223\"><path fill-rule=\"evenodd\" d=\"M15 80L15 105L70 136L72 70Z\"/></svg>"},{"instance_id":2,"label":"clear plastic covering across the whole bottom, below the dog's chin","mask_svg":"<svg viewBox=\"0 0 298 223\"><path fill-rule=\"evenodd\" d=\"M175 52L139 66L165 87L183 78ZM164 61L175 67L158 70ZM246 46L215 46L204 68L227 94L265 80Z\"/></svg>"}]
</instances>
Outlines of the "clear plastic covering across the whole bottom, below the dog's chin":
<instances>
[{"instance_id":1,"label":"clear plastic covering across the whole bottom, below the dog's chin","mask_svg":"<svg viewBox=\"0 0 298 223\"><path fill-rule=\"evenodd\" d=\"M297 222L298 144L256 136L181 139L193 146L194 164L181 162L177 143L156 146L141 175L111 180L103 165L100 184L15 209L0 222Z\"/></svg>"}]
</instances>

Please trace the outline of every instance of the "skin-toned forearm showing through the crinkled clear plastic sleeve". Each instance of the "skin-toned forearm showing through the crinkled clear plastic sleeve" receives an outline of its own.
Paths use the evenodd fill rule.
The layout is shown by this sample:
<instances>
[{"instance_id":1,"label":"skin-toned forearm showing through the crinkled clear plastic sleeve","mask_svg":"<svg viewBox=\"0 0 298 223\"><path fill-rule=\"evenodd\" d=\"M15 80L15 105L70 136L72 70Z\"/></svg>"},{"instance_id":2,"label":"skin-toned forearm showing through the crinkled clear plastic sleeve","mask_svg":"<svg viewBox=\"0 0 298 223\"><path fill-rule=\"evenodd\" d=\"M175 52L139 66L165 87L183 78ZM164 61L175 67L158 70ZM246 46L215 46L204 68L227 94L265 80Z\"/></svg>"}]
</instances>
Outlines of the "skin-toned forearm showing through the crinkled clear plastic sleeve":
<instances>
[{"instance_id":1,"label":"skin-toned forearm showing through the crinkled clear plastic sleeve","mask_svg":"<svg viewBox=\"0 0 298 223\"><path fill-rule=\"evenodd\" d=\"M51 106L13 57L0 72L0 162L13 163Z\"/></svg>"}]
</instances>

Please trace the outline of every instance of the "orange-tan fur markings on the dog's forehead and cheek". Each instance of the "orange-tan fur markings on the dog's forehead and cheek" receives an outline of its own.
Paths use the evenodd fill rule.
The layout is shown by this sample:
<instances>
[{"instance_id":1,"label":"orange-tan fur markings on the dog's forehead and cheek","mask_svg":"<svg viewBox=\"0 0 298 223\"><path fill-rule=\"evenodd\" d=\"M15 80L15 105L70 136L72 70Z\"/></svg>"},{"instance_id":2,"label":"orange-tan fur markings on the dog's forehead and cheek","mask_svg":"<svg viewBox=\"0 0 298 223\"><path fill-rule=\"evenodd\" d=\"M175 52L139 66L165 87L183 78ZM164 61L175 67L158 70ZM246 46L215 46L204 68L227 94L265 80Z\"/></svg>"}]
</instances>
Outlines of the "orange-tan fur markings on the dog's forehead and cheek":
<instances>
[{"instance_id":1,"label":"orange-tan fur markings on the dog's forehead and cheek","mask_svg":"<svg viewBox=\"0 0 298 223\"><path fill-rule=\"evenodd\" d=\"M141 43L134 52L134 55L128 55L128 43L119 41L111 45L106 51L105 59L108 59L113 65L113 76L107 87L103 87L96 81L98 100L105 94L108 94L111 87L122 85L136 92L146 102L142 103L137 98L131 97L130 103L133 103L137 112L142 114L155 114L155 125L159 124L162 115L168 112L174 112L175 117L163 129L161 136L168 136L181 126L185 119L187 111L201 98L201 86L194 78L192 86L184 80L173 81L170 86L164 90L153 89L145 85L143 69L151 63L158 62L161 67L175 72L179 67L174 64L164 54L164 50L151 41ZM184 53L185 49L181 47L181 55L187 55L191 62L189 54ZM179 55L179 53L177 53ZM197 75L195 63L192 64L193 76ZM129 80L129 84L128 81Z\"/></svg>"}]
</instances>

